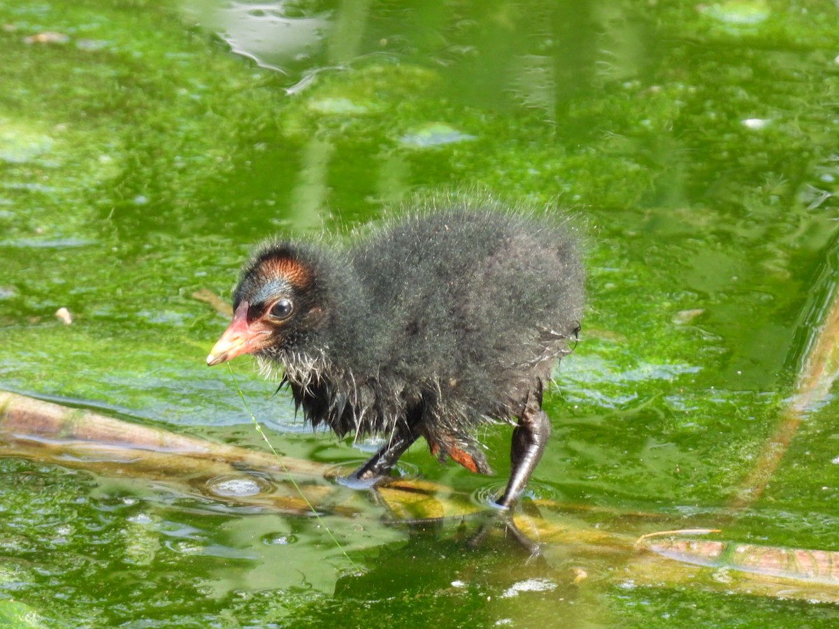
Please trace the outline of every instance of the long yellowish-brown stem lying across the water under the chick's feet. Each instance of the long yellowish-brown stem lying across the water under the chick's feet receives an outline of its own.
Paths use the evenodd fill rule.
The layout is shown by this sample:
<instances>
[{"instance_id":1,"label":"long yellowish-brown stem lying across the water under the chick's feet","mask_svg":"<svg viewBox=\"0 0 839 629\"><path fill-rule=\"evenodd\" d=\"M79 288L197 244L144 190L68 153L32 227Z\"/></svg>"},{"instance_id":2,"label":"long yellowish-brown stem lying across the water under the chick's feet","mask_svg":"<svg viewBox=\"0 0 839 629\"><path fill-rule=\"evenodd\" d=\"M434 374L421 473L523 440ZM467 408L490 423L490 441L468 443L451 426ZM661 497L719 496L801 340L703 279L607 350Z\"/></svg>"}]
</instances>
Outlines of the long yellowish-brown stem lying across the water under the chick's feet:
<instances>
[{"instance_id":1,"label":"long yellowish-brown stem lying across the water under the chick's feet","mask_svg":"<svg viewBox=\"0 0 839 629\"><path fill-rule=\"evenodd\" d=\"M336 473L332 466L217 444L13 393L0 392L0 455L164 481L174 490L180 487L219 502L310 514L290 474L319 512L349 517L370 512L366 491L351 491L326 479ZM236 481L257 490L230 491ZM390 517L406 523L461 521L483 511L470 496L416 479L393 479L376 494ZM537 539L547 553L556 548L563 556L573 554L581 560L607 555L612 564L624 563L627 569L615 570L610 579L839 603L839 553L697 539L711 533L702 529L638 538L586 527L556 502L534 501L532 507L539 513L515 516L520 531ZM650 514L619 515L646 516L649 521Z\"/></svg>"}]
</instances>

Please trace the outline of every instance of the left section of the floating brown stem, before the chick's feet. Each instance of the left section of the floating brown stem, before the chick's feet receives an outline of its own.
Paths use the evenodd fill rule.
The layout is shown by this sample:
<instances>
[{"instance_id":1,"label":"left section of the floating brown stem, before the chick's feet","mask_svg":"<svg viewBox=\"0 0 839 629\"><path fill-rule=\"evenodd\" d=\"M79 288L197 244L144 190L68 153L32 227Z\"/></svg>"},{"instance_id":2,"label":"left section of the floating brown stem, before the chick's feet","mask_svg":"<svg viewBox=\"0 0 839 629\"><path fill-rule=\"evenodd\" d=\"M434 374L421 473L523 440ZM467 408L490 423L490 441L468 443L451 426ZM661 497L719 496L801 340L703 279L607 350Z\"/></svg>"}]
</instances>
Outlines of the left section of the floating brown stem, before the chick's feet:
<instances>
[{"instance_id":1,"label":"left section of the floating brown stem, before the chick's feet","mask_svg":"<svg viewBox=\"0 0 839 629\"><path fill-rule=\"evenodd\" d=\"M302 497L283 482L268 481L269 477L281 478L288 470L317 503L329 502L335 489L324 481L326 465L279 459L261 450L218 444L8 392L0 392L0 455L109 476L152 478L185 485L188 493L200 492L221 502L300 514L310 512ZM214 483L213 479L219 480Z\"/></svg>"}]
</instances>

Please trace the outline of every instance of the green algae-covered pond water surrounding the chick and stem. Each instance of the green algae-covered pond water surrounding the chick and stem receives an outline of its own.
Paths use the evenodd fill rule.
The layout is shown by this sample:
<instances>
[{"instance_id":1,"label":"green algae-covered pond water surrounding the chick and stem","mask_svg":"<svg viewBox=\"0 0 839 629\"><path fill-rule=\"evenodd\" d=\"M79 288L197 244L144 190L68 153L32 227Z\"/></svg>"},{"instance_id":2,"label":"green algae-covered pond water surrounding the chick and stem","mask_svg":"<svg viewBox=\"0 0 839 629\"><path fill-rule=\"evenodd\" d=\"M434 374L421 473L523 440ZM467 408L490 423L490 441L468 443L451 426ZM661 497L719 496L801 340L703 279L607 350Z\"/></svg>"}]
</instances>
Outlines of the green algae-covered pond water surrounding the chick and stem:
<instances>
[{"instance_id":1,"label":"green algae-covered pond water surrounding the chick and stem","mask_svg":"<svg viewBox=\"0 0 839 629\"><path fill-rule=\"evenodd\" d=\"M731 507L836 300L837 23L828 0L0 0L0 389L265 450L238 386L279 454L352 468L374 444L312 434L246 360L206 368L227 315L194 294L229 301L269 235L480 190L561 209L586 257L520 508L839 551L830 391ZM480 436L498 476L420 444L400 470L480 501L509 429ZM472 522L394 526L374 496L317 519L185 487L0 457L0 625L839 622L725 568L640 583L625 554L467 549Z\"/></svg>"}]
</instances>

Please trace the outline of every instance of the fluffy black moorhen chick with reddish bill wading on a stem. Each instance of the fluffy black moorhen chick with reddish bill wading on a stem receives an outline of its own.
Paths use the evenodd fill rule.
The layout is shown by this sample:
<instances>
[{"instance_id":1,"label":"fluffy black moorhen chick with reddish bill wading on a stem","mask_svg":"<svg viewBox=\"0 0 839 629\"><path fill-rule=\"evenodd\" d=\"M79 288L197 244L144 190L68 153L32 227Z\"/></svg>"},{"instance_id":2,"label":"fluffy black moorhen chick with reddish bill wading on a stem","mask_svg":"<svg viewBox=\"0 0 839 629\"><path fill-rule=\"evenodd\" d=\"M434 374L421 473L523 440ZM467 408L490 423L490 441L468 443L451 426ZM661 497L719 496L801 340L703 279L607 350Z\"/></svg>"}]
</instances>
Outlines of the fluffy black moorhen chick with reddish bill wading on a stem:
<instances>
[{"instance_id":1,"label":"fluffy black moorhen chick with reddish bill wading on a stem","mask_svg":"<svg viewBox=\"0 0 839 629\"><path fill-rule=\"evenodd\" d=\"M314 426L383 434L352 475L371 484L419 437L489 473L477 427L515 422L509 507L550 434L542 392L576 339L582 283L568 231L493 203L404 217L351 247L266 242L207 364L253 354L282 367Z\"/></svg>"}]
</instances>

